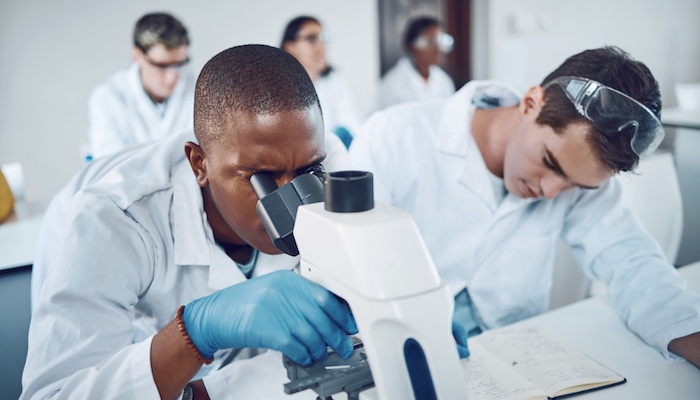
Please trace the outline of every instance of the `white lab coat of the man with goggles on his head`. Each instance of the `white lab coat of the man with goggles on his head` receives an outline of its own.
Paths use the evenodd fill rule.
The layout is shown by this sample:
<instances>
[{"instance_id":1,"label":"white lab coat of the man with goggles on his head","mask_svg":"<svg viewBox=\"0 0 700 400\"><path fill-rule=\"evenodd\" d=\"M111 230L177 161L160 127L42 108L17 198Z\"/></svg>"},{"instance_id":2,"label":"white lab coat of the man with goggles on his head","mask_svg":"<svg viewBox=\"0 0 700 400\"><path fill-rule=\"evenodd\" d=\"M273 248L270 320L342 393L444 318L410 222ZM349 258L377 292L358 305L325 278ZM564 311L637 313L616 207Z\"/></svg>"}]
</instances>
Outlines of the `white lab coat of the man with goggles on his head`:
<instances>
[{"instance_id":1,"label":"white lab coat of the man with goggles on his head","mask_svg":"<svg viewBox=\"0 0 700 400\"><path fill-rule=\"evenodd\" d=\"M561 237L585 274L609 286L628 326L668 355L672 339L700 331L700 296L684 290L654 239L623 208L616 179L552 200L496 200L471 116L474 103L518 99L494 82L470 82L449 99L376 113L353 142L351 162L374 173L377 201L412 213L441 277L454 294L468 288L484 328L547 310Z\"/></svg>"}]
</instances>

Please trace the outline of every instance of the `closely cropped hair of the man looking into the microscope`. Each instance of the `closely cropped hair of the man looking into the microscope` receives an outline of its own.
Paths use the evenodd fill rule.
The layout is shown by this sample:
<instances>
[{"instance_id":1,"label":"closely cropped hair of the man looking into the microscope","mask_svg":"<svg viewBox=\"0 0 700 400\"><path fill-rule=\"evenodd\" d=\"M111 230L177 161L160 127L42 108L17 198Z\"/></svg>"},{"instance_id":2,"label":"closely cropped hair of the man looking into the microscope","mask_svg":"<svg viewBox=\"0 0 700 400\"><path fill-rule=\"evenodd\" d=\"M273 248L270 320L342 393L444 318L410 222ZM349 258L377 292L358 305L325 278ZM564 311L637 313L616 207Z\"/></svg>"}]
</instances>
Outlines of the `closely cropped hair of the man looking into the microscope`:
<instances>
[{"instance_id":1,"label":"closely cropped hair of the man looking into the microscope","mask_svg":"<svg viewBox=\"0 0 700 400\"><path fill-rule=\"evenodd\" d=\"M224 50L209 60L197 79L194 133L205 150L230 126L232 112L272 115L317 106L311 78L291 54L251 44Z\"/></svg>"}]
</instances>

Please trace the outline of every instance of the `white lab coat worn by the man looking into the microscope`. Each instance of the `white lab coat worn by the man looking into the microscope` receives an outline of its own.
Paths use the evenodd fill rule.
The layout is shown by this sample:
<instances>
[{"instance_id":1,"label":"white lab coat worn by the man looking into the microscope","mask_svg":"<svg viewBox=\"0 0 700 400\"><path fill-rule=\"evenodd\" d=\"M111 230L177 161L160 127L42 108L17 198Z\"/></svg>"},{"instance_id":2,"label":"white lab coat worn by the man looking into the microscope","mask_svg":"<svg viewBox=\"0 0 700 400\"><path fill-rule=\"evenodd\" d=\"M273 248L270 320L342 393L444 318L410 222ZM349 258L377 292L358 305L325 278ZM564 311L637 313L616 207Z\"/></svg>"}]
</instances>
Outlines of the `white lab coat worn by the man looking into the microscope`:
<instances>
[{"instance_id":1,"label":"white lab coat worn by the man looking into the microscope","mask_svg":"<svg viewBox=\"0 0 700 400\"><path fill-rule=\"evenodd\" d=\"M159 398L150 367L153 334L180 305L246 279L214 242L185 158L187 140L194 140L191 132L88 164L89 172L59 195L82 188L67 217L60 207L45 216L58 219L50 225L63 220L67 228L55 239L55 253L44 257L53 261L30 324L22 399ZM326 136L326 147L326 168L347 169L347 153L335 135ZM254 276L297 262L260 254ZM279 354L215 371L226 353L217 352L205 367L212 398L288 398ZM248 381L261 375L269 379Z\"/></svg>"}]
</instances>

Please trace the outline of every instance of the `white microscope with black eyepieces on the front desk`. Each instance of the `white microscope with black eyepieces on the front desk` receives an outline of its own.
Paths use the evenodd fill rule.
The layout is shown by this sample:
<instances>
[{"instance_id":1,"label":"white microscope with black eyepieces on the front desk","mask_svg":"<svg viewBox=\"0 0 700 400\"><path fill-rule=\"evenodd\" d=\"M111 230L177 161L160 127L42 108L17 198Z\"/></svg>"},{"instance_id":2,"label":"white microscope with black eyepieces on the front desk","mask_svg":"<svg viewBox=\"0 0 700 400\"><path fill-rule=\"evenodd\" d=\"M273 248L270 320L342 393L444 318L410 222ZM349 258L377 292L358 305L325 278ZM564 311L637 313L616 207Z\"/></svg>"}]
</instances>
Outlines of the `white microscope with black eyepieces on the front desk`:
<instances>
[{"instance_id":1,"label":"white microscope with black eyepieces on the front desk","mask_svg":"<svg viewBox=\"0 0 700 400\"><path fill-rule=\"evenodd\" d=\"M300 254L301 275L348 303L361 338L353 337L349 360L332 354L304 367L285 357L292 380L285 391L311 388L319 399L340 391L360 400L465 399L452 295L410 214L374 203L372 174L305 173L279 188L265 173L251 181L273 243Z\"/></svg>"}]
</instances>

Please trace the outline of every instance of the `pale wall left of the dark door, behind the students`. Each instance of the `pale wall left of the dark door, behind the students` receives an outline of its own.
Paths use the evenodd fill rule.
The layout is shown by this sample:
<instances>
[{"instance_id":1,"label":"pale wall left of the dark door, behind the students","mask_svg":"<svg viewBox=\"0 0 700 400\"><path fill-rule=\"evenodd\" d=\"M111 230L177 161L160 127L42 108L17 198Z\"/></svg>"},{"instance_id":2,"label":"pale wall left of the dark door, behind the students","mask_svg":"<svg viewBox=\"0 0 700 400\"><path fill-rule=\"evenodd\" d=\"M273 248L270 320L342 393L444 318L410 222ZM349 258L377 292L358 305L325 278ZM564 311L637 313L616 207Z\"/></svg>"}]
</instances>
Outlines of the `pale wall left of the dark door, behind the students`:
<instances>
[{"instance_id":1,"label":"pale wall left of the dark door, behind the students","mask_svg":"<svg viewBox=\"0 0 700 400\"><path fill-rule=\"evenodd\" d=\"M130 63L131 32L151 11L190 31L193 68L246 43L279 44L291 18L310 14L335 34L331 62L369 111L379 79L377 1L0 2L0 164L20 161L28 200L48 200L81 166L92 88Z\"/></svg>"}]
</instances>

